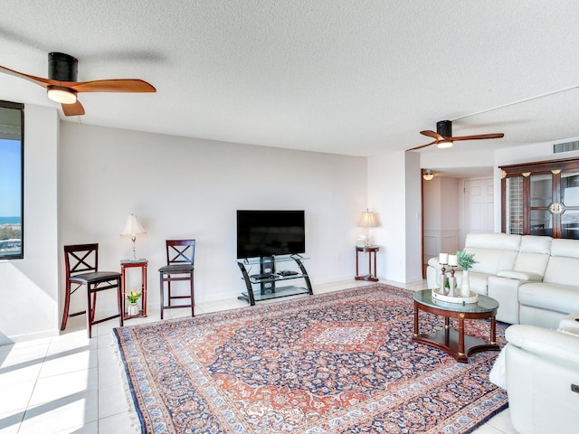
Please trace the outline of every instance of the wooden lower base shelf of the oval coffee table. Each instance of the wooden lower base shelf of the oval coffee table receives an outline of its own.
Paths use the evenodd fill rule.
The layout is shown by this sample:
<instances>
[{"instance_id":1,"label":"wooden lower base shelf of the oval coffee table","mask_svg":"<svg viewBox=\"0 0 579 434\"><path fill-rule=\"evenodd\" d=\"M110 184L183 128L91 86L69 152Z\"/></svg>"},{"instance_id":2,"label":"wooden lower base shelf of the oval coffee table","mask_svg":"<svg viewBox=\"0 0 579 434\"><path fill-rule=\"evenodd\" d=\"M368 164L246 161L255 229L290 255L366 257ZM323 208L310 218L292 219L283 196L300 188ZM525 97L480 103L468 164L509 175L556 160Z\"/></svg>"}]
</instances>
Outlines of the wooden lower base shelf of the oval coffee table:
<instances>
[{"instance_id":1,"label":"wooden lower base shelf of the oval coffee table","mask_svg":"<svg viewBox=\"0 0 579 434\"><path fill-rule=\"evenodd\" d=\"M483 341L478 337L463 335L464 353L459 352L460 334L454 328L443 328L430 335L414 335L413 341L422 344L432 345L446 354L450 354L457 362L469 363L469 357L472 354L481 351L500 351L498 344L491 344L489 341Z\"/></svg>"}]
</instances>

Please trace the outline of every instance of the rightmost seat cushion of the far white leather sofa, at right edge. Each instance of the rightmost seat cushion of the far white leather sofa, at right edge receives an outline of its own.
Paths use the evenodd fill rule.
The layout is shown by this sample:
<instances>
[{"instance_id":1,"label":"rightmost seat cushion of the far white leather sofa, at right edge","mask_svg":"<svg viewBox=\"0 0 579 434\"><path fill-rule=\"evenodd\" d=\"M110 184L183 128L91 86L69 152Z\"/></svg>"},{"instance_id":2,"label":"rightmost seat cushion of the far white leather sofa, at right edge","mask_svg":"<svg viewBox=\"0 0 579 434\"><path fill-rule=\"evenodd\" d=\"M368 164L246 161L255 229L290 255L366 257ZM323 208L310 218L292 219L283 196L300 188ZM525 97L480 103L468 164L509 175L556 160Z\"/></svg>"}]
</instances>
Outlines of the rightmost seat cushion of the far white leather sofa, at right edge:
<instances>
[{"instance_id":1,"label":"rightmost seat cushion of the far white leather sofa, at right edge","mask_svg":"<svg viewBox=\"0 0 579 434\"><path fill-rule=\"evenodd\" d=\"M570 314L579 311L579 287L525 283L518 288L518 302L521 306Z\"/></svg>"}]
</instances>

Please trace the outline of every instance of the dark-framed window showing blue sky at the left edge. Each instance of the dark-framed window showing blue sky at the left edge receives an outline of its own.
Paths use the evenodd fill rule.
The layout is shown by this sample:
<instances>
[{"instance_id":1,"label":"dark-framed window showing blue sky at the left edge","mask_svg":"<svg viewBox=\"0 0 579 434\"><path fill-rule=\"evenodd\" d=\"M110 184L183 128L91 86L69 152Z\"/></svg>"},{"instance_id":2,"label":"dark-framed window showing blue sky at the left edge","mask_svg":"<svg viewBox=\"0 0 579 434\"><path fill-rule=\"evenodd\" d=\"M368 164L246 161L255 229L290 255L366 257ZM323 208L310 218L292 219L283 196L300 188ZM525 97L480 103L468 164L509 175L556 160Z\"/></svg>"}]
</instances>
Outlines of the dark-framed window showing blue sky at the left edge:
<instances>
[{"instance_id":1,"label":"dark-framed window showing blue sky at the left edge","mask_svg":"<svg viewBox=\"0 0 579 434\"><path fill-rule=\"evenodd\" d=\"M0 259L24 258L24 104L0 101Z\"/></svg>"}]
</instances>

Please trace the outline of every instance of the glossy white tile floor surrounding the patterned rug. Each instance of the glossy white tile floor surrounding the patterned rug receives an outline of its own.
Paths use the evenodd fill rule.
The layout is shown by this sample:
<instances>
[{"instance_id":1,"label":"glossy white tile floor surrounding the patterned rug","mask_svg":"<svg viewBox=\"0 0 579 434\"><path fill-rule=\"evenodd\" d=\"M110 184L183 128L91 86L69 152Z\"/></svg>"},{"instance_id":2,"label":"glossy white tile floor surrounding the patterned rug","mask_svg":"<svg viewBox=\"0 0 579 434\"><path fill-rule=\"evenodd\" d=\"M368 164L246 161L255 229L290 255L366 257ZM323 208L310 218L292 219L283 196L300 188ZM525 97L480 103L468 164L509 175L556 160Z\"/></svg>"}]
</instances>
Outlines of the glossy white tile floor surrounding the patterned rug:
<instances>
[{"instance_id":1,"label":"glossy white tile floor surrounding the patterned rug","mask_svg":"<svg viewBox=\"0 0 579 434\"><path fill-rule=\"evenodd\" d=\"M320 285L314 292L365 284L346 281ZM422 289L425 284L405 287ZM235 307L247 307L247 304L237 298L204 303L195 307L195 314ZM166 311L166 316L187 316L187 312L186 308L174 309ZM158 310L149 308L147 314L147 318L134 318L126 324L160 318ZM118 325L117 320L101 323L93 328L93 337L89 339L84 316L79 316L69 320L62 335L0 346L0 434L135 433L137 429L131 425L110 333ZM512 428L506 410L475 433L516 434L517 431Z\"/></svg>"}]
</instances>

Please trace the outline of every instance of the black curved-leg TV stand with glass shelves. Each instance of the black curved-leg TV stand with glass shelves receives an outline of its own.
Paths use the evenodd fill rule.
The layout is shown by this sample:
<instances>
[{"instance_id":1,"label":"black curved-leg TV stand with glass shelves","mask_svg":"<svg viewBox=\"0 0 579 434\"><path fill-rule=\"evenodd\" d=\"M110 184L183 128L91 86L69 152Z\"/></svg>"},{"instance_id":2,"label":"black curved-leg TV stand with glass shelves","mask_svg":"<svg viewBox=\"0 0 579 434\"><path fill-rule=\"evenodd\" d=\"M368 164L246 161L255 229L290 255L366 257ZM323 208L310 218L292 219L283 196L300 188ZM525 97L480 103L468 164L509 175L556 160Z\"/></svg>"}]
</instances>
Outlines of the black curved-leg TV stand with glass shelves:
<instances>
[{"instance_id":1,"label":"black curved-leg TV stand with glass shelves","mask_svg":"<svg viewBox=\"0 0 579 434\"><path fill-rule=\"evenodd\" d=\"M312 295L311 282L309 281L308 271L304 267L303 260L308 259L299 255L289 256L267 256L252 259L238 259L237 265L242 271L243 280L245 281L246 292L237 297L240 300L247 301L251 306L255 306L256 301L271 300L272 298L297 296L299 294ZM287 270L276 272L276 265L283 263L295 263L299 271ZM250 274L253 266L259 266L259 273ZM284 270L286 271L286 270ZM282 280L294 280L296 278L304 279L306 288L297 286L279 287L276 284ZM259 289L254 291L253 286L258 285Z\"/></svg>"}]
</instances>

